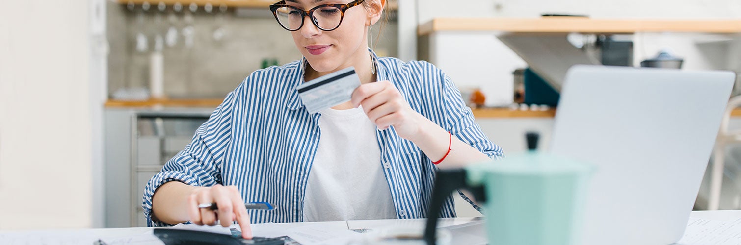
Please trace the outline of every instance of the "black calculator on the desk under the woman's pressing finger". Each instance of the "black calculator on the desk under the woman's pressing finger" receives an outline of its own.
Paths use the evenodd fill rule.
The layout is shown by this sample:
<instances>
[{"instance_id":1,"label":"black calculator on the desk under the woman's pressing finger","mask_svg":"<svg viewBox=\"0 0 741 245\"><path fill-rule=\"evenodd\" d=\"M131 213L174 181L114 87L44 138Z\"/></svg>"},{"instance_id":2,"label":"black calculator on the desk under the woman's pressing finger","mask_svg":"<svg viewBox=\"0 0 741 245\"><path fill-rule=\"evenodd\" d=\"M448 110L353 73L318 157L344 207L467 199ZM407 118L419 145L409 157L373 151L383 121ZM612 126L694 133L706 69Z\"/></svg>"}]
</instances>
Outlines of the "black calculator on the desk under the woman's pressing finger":
<instances>
[{"instance_id":1,"label":"black calculator on the desk under the woman's pressing finger","mask_svg":"<svg viewBox=\"0 0 741 245\"><path fill-rule=\"evenodd\" d=\"M194 244L194 245L219 245L219 244L255 244L255 245L283 245L299 244L288 236L277 238L244 239L241 236L224 235L213 232L200 232L185 229L154 229L154 235L167 245ZM241 235L241 233L239 234Z\"/></svg>"}]
</instances>

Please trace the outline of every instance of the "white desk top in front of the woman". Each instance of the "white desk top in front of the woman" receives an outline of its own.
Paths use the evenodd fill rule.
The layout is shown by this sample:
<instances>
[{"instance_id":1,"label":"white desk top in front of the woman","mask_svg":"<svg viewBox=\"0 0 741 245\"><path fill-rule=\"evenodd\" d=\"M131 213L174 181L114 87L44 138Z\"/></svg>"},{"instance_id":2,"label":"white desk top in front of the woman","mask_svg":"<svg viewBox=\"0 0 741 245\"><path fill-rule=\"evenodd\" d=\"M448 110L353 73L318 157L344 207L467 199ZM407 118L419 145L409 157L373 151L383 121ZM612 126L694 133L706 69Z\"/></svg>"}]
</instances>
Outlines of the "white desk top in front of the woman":
<instances>
[{"instance_id":1,"label":"white desk top in front of the woman","mask_svg":"<svg viewBox=\"0 0 741 245\"><path fill-rule=\"evenodd\" d=\"M741 210L722 211L694 211L692 218L707 218L719 221L735 221L741 218ZM438 227L460 227L464 224L480 222L480 218L442 218ZM288 224L254 224L253 235L275 234L281 230L298 228L302 226L322 226L333 229L388 229L389 227L407 227L409 229L422 229L425 219L390 219L390 220L368 220L368 221L338 221L321 223L288 223ZM238 227L233 225L232 227ZM480 226L477 227L481 229ZM114 228L114 229L53 229L33 231L2 231L0 232L0 244L93 244L98 238L124 238L136 237L151 232L153 228ZM464 228L465 229L465 228ZM454 232L453 232L454 233ZM262 236L265 236L262 235ZM453 234L453 244L479 244L477 238L471 238L470 234ZM119 240L121 241L121 240ZM136 240L130 240L137 242ZM141 242L141 241L139 241ZM141 243L138 243L141 244ZM684 245L684 244L683 244Z\"/></svg>"}]
</instances>

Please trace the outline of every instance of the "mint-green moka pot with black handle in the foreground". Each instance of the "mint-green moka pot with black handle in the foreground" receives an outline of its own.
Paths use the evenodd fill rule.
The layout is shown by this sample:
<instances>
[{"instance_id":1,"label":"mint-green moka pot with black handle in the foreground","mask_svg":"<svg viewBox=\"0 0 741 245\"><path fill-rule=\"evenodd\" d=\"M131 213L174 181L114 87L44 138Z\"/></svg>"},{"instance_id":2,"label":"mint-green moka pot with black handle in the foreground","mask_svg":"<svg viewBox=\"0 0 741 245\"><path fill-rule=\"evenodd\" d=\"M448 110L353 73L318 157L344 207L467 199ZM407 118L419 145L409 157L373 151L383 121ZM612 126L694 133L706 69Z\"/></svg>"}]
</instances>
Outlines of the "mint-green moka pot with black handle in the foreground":
<instances>
[{"instance_id":1,"label":"mint-green moka pot with black handle in the foreground","mask_svg":"<svg viewBox=\"0 0 741 245\"><path fill-rule=\"evenodd\" d=\"M531 136L531 150L525 154L463 169L438 170L425 227L428 244L434 244L443 202L456 189L468 189L482 206L489 244L579 244L576 239L593 167L539 154ZM537 141L536 135L534 138Z\"/></svg>"}]
</instances>

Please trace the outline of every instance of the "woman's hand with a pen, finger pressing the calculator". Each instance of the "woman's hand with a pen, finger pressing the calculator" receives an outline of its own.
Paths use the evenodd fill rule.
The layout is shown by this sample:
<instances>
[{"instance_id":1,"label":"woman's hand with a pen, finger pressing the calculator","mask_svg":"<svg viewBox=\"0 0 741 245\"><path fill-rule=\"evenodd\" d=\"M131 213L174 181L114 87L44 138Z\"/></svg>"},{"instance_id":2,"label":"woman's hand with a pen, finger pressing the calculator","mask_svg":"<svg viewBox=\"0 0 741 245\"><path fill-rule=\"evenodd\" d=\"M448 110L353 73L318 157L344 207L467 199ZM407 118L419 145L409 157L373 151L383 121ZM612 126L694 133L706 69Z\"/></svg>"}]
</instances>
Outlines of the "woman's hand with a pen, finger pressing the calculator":
<instances>
[{"instance_id":1,"label":"woman's hand with a pen, finger pressing the calculator","mask_svg":"<svg viewBox=\"0 0 741 245\"><path fill-rule=\"evenodd\" d=\"M193 189L187 200L190 223L215 226L218 221L222 226L229 227L233 221L236 221L242 228L242 238L252 238L250 215L247 214L245 202L242 201L242 196L239 195L239 189L236 187L217 184L213 187ZM219 209L198 207L199 204L213 203L216 203Z\"/></svg>"}]
</instances>

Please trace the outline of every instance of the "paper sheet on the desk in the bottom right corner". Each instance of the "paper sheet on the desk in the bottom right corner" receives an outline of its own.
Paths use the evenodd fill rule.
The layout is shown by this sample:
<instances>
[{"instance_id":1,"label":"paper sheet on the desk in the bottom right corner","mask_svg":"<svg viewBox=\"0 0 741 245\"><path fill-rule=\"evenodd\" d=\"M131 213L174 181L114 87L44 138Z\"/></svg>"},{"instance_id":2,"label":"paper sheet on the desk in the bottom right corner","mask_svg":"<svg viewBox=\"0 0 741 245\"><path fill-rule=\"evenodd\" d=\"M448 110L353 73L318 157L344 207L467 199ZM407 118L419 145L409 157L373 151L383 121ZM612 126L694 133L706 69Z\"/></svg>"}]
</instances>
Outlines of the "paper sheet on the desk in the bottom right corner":
<instances>
[{"instance_id":1,"label":"paper sheet on the desk in the bottom right corner","mask_svg":"<svg viewBox=\"0 0 741 245\"><path fill-rule=\"evenodd\" d=\"M741 218L735 221L690 218L687 229L685 229L685 235L677 244L741 244Z\"/></svg>"}]
</instances>

